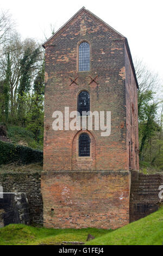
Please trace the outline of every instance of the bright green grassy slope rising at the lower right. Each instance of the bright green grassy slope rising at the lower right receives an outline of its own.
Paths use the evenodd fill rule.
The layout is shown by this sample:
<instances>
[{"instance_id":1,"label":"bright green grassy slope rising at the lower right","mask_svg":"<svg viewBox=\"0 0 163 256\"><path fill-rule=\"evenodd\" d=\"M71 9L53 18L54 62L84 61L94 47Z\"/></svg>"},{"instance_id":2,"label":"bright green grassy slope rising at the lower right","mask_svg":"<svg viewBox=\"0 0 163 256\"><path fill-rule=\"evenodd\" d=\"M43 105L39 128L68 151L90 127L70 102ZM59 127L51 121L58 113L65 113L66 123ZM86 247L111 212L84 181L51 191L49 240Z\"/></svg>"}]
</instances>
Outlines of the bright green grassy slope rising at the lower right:
<instances>
[{"instance_id":1,"label":"bright green grassy slope rising at the lower right","mask_svg":"<svg viewBox=\"0 0 163 256\"><path fill-rule=\"evenodd\" d=\"M163 208L145 218L91 240L86 245L162 245Z\"/></svg>"}]
</instances>

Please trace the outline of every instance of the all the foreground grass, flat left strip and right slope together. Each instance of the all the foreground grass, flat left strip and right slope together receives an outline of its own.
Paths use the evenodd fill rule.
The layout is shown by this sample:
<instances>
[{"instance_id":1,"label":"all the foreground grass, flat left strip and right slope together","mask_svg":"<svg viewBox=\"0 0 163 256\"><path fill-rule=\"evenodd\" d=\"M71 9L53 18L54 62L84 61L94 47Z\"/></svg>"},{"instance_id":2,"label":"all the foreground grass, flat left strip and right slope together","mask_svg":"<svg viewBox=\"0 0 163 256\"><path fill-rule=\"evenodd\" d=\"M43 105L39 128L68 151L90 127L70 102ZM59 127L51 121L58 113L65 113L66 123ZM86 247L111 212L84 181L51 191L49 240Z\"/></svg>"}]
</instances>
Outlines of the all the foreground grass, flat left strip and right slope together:
<instances>
[{"instance_id":1,"label":"all the foreground grass, flat left strip and right slope together","mask_svg":"<svg viewBox=\"0 0 163 256\"><path fill-rule=\"evenodd\" d=\"M96 238L86 242L88 234ZM114 231L96 228L47 229L23 224L0 228L0 245L58 245L63 241L85 242L85 245L162 245L163 207Z\"/></svg>"}]
</instances>

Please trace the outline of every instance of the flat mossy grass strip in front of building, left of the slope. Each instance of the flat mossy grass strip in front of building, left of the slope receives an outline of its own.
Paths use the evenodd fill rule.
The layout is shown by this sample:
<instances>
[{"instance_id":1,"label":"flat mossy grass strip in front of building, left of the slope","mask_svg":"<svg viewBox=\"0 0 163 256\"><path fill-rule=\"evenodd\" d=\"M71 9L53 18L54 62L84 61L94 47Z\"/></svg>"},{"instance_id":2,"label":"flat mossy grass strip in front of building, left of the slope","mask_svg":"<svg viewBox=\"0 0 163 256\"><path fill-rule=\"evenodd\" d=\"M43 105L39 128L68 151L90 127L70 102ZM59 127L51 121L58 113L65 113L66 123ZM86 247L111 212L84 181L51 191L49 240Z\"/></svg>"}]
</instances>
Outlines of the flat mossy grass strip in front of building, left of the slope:
<instances>
[{"instance_id":1,"label":"flat mossy grass strip in front of building, left of the slope","mask_svg":"<svg viewBox=\"0 0 163 256\"><path fill-rule=\"evenodd\" d=\"M0 245L58 245L63 241L86 242L88 234L98 237L110 232L111 230L96 228L47 229L10 224L0 228Z\"/></svg>"}]
</instances>

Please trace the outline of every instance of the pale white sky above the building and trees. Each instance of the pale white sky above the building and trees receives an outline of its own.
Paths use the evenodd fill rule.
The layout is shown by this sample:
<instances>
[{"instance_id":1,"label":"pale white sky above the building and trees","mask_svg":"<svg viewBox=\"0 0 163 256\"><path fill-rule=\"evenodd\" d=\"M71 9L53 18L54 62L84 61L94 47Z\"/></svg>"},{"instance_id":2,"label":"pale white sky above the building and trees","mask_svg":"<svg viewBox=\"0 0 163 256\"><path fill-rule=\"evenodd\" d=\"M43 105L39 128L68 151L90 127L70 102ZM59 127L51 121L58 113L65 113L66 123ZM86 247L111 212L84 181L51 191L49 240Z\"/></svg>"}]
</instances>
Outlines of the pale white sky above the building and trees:
<instances>
[{"instance_id":1,"label":"pale white sky above the building and trees","mask_svg":"<svg viewBox=\"0 0 163 256\"><path fill-rule=\"evenodd\" d=\"M83 6L126 36L133 58L163 78L163 0L0 0L23 39L51 36L51 24L57 31Z\"/></svg>"}]
</instances>

